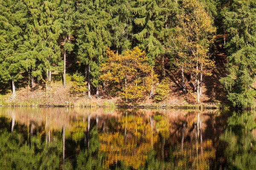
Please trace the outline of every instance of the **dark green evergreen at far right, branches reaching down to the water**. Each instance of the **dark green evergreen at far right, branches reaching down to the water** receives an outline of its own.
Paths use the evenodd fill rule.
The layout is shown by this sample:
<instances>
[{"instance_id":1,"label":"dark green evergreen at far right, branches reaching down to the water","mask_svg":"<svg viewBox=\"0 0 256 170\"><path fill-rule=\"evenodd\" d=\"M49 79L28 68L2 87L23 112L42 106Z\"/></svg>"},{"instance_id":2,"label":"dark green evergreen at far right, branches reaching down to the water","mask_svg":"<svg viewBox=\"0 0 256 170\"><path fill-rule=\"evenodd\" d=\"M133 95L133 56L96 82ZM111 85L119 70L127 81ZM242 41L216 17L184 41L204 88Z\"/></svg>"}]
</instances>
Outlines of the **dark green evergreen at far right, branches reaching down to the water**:
<instances>
[{"instance_id":1,"label":"dark green evergreen at far right, branches reaching down to the water","mask_svg":"<svg viewBox=\"0 0 256 170\"><path fill-rule=\"evenodd\" d=\"M234 107L254 105L256 74L256 2L231 0L222 10L224 29L228 33L225 48L228 51L228 75L221 79Z\"/></svg>"}]
</instances>

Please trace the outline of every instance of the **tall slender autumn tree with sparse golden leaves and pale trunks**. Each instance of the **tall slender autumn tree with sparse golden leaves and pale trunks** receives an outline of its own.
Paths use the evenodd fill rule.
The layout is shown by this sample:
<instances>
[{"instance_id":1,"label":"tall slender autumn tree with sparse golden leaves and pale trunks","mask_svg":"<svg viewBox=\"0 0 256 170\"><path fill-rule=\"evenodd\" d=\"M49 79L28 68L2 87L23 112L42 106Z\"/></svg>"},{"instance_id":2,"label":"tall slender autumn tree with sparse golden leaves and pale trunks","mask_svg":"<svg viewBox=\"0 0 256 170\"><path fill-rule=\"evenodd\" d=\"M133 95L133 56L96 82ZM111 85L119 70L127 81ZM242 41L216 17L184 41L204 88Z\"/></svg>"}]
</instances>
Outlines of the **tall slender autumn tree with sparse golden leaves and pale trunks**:
<instances>
[{"instance_id":1,"label":"tall slender autumn tree with sparse golden leaves and pale trunks","mask_svg":"<svg viewBox=\"0 0 256 170\"><path fill-rule=\"evenodd\" d=\"M184 0L182 10L174 51L178 56L177 65L182 72L183 89L186 88L185 70L195 77L197 101L200 102L203 75L211 75L211 69L214 67L214 62L209 59L208 48L215 28L204 7L197 0Z\"/></svg>"}]
</instances>

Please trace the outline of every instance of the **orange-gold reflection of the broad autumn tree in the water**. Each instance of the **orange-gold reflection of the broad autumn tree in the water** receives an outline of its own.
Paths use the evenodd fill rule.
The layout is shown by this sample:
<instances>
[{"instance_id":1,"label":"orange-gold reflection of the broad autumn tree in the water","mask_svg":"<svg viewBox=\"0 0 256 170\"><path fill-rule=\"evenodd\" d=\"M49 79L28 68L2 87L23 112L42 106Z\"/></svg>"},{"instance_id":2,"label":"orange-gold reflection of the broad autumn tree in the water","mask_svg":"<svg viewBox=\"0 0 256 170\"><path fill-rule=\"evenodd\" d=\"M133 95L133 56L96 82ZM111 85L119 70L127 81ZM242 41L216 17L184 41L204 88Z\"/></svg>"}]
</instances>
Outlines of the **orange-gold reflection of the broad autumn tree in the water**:
<instances>
[{"instance_id":1,"label":"orange-gold reflection of the broad autumn tree in the water","mask_svg":"<svg viewBox=\"0 0 256 170\"><path fill-rule=\"evenodd\" d=\"M100 150L106 154L105 165L109 167L117 161L138 169L145 165L148 152L157 142L157 134L153 133L150 123L143 122L140 116L123 116L119 119L121 131L112 134L99 135Z\"/></svg>"}]
</instances>

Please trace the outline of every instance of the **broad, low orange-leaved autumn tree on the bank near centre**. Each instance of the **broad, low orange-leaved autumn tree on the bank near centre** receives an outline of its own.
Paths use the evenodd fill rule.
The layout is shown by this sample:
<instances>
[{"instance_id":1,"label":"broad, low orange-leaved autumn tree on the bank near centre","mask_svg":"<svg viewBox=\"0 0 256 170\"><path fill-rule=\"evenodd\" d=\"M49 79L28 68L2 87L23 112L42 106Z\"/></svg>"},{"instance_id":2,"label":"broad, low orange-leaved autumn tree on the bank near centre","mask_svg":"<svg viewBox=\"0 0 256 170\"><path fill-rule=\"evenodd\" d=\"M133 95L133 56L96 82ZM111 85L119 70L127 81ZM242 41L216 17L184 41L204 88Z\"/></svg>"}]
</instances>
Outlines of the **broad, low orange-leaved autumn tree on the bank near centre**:
<instances>
[{"instance_id":1,"label":"broad, low orange-leaved autumn tree on the bank near centre","mask_svg":"<svg viewBox=\"0 0 256 170\"><path fill-rule=\"evenodd\" d=\"M156 75L152 79L145 51L135 47L122 55L108 48L105 55L108 58L102 64L104 74L100 78L119 89L120 96L127 102L143 99L156 79Z\"/></svg>"}]
</instances>

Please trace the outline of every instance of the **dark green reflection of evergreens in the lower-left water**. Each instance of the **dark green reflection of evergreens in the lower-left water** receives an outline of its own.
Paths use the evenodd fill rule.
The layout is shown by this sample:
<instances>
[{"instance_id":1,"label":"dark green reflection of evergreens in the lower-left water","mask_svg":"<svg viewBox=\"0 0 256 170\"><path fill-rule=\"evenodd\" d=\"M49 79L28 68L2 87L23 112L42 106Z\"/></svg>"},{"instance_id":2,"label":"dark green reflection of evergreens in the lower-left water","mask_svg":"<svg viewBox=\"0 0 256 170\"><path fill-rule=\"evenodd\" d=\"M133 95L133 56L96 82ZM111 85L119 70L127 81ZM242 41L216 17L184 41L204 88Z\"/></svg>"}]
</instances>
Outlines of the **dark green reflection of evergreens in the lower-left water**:
<instances>
[{"instance_id":1,"label":"dark green reflection of evergreens in the lower-left water","mask_svg":"<svg viewBox=\"0 0 256 170\"><path fill-rule=\"evenodd\" d=\"M58 137L46 143L37 134L31 136L29 144L23 133L0 130L0 167L4 169L55 169L59 167L61 150Z\"/></svg>"}]
</instances>

